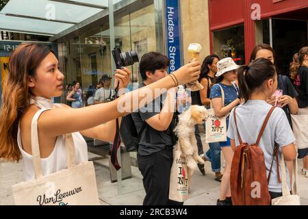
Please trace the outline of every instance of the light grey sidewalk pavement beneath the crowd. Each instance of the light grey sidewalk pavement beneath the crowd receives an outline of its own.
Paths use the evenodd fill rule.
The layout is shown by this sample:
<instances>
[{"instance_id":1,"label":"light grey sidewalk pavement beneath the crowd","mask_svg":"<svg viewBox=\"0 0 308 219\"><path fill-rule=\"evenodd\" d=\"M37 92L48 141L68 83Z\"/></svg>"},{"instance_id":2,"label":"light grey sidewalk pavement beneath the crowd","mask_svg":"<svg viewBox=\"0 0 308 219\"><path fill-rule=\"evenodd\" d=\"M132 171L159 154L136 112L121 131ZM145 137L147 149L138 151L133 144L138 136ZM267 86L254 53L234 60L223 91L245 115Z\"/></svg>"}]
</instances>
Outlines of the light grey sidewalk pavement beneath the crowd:
<instances>
[{"instance_id":1,"label":"light grey sidewalk pavement beneath the crowd","mask_svg":"<svg viewBox=\"0 0 308 219\"><path fill-rule=\"evenodd\" d=\"M204 138L203 138L204 139ZM204 144L205 152L208 149ZM89 159L97 155L89 153ZM138 168L132 166L132 178L125 179L122 183L122 190L118 194L118 183L110 180L109 159L98 159L94 161L97 175L97 189L101 205L142 205L145 196L142 185L142 175ZM223 166L223 158L222 158ZM308 205L308 178L300 174L302 160L298 160L298 187L302 205ZM190 198L185 205L216 205L219 197L220 183L214 181L214 173L211 172L211 164L205 164L206 175L201 175L199 170L194 172ZM14 205L12 196L12 185L24 180L23 163L4 163L0 161L0 205Z\"/></svg>"}]
</instances>

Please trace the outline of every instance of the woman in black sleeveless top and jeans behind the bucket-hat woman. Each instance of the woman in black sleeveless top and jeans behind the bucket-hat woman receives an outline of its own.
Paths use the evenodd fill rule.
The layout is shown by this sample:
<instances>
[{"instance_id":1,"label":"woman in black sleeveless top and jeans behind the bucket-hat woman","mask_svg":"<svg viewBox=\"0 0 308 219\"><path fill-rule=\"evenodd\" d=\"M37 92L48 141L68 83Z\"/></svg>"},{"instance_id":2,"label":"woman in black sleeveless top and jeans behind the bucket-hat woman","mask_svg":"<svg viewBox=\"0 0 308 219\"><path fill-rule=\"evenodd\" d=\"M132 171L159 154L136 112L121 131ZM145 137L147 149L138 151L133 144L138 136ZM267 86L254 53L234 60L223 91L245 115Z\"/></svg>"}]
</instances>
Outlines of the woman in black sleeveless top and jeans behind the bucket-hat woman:
<instances>
[{"instance_id":1,"label":"woman in black sleeveless top and jeans behind the bucket-hat woman","mask_svg":"<svg viewBox=\"0 0 308 219\"><path fill-rule=\"evenodd\" d=\"M218 55L208 55L205 57L205 60L201 66L201 74L198 79L198 81L202 84L203 89L192 92L192 104L205 105L207 108L211 105L209 94L211 86L214 84L215 74L217 73L217 62L219 62L219 60ZM198 129L196 129L196 131L198 131ZM198 132L196 133L196 139L198 142L197 137L200 138L200 134ZM198 146L198 153L200 154L201 151L199 151L199 147L200 146ZM202 147L201 142L201 148ZM211 170L215 172L215 180L219 182L221 182L222 179L222 173L220 172L220 151L221 149L219 142L209 143L209 150L201 156L205 161L211 162ZM198 164L198 168L201 172L205 173L204 164Z\"/></svg>"}]
</instances>

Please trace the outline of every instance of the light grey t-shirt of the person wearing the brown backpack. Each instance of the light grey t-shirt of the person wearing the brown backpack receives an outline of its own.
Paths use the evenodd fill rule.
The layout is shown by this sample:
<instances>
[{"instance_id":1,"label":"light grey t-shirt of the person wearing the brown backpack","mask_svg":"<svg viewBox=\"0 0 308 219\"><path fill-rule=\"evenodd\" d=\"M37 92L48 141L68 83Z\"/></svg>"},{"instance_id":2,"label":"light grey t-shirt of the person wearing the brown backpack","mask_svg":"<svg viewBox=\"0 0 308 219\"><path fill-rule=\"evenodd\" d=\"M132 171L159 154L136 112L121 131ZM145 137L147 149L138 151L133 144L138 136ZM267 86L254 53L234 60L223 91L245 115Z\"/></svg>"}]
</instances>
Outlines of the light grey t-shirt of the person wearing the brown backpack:
<instances>
[{"instance_id":1,"label":"light grey t-shirt of the person wearing the brown backpack","mask_svg":"<svg viewBox=\"0 0 308 219\"><path fill-rule=\"evenodd\" d=\"M266 103L266 101L248 101L238 106L236 110L236 120L238 123L238 129L243 142L253 144L257 141L257 137L261 131L261 127L264 123L266 115L270 111L272 105ZM238 140L238 133L235 127L233 118L233 110L229 118L229 129L227 136L235 140L235 144L238 146L240 142ZM288 123L287 116L281 108L276 108L270 119L268 125L264 129L263 136L259 142L259 147L264 153L264 160L266 164L266 175L270 172L270 165L272 163L272 157L274 152L274 142L279 144L279 157L281 157L281 148L295 142L294 134ZM280 166L280 158L279 158ZM286 168L287 170L287 168ZM281 171L281 169L280 169ZM287 171L287 184L290 188L290 177ZM277 179L277 163L274 160L272 166L272 175L270 176L270 183L268 185L270 192L281 192L281 184Z\"/></svg>"}]
</instances>

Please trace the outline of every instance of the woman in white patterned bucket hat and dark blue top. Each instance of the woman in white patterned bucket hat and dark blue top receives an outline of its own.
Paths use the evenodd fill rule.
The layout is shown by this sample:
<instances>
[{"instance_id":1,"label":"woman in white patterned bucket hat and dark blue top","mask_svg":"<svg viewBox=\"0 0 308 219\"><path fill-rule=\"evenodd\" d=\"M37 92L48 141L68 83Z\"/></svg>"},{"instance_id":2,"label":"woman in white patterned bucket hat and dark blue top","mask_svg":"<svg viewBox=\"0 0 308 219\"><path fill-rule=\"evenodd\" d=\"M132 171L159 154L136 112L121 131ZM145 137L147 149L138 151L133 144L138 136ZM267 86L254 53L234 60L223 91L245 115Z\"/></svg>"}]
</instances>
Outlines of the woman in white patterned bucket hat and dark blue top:
<instances>
[{"instance_id":1,"label":"woman in white patterned bucket hat and dark blue top","mask_svg":"<svg viewBox=\"0 0 308 219\"><path fill-rule=\"evenodd\" d=\"M216 73L216 83L211 88L209 99L214 108L214 112L218 118L229 115L233 107L240 104L240 97L238 96L238 87L234 81L237 79L236 70L240 68L231 57L224 58L217 63L218 72ZM222 99L224 96L224 99ZM223 104L224 103L224 104ZM227 128L229 123L229 116L227 116ZM232 205L231 191L230 191L230 171L233 151L229 138L227 142L219 142L220 148L224 155L226 165L224 167L224 174L220 186L220 197L217 205Z\"/></svg>"}]
</instances>

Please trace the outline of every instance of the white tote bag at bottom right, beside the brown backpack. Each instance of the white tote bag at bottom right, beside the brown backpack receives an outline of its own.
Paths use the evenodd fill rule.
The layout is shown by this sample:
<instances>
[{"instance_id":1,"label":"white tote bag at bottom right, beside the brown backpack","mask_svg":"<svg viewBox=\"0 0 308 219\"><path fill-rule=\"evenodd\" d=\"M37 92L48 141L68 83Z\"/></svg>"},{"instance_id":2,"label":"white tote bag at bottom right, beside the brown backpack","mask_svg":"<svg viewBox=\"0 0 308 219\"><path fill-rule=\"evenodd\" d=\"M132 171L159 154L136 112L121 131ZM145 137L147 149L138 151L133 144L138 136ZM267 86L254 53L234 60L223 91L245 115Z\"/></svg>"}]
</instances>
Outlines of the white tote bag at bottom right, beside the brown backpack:
<instances>
[{"instance_id":1,"label":"white tote bag at bottom right, beside the brown backpack","mask_svg":"<svg viewBox=\"0 0 308 219\"><path fill-rule=\"evenodd\" d=\"M292 194L290 194L290 190L287 186L287 174L285 172L285 159L283 158L283 154L281 154L281 180L282 180L282 191L283 196L272 199L272 205L300 205L300 196L297 192L297 159L293 162L293 171L294 173L294 185L292 185ZM293 177L292 177L293 178Z\"/></svg>"}]
</instances>

